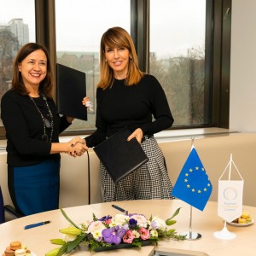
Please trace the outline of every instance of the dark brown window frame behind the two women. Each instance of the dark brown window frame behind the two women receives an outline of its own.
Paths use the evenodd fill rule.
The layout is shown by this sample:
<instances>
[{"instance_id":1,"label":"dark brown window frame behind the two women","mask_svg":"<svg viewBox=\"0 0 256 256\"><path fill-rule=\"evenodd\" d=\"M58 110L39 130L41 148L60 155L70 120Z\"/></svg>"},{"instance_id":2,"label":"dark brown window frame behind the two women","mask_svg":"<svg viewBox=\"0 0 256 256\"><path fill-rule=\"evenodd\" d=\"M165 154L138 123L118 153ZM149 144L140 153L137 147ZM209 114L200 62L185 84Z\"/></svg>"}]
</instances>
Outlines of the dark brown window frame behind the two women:
<instances>
[{"instance_id":1,"label":"dark brown window frame behind the two women","mask_svg":"<svg viewBox=\"0 0 256 256\"><path fill-rule=\"evenodd\" d=\"M206 0L206 98L210 94L212 102L210 120L207 125L180 125L172 130L219 127L229 128L230 118L230 25L232 0ZM131 38L137 49L139 67L143 72L149 69L149 8L150 0L131 0ZM228 19L226 19L226 17ZM225 18L225 19L224 19ZM55 0L35 0L36 42L49 49L50 62L55 72ZM223 72L223 67L228 70ZM53 90L56 99L55 88ZM90 134L93 131L66 131L61 135ZM0 139L5 139L4 127L0 127Z\"/></svg>"}]
</instances>

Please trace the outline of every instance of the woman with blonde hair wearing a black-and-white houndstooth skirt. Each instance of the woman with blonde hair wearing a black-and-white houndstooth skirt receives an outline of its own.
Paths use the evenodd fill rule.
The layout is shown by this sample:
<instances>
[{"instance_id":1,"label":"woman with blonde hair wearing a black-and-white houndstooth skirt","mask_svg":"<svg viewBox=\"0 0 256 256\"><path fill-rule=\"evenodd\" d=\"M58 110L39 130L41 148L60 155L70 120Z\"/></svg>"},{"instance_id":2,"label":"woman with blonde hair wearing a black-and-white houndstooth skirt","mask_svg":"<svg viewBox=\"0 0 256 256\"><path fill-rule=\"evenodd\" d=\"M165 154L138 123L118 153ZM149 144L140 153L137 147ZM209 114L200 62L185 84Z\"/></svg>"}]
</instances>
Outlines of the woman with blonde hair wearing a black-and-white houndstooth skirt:
<instances>
[{"instance_id":1,"label":"woman with blonde hair wearing a black-and-white houndstooth skirt","mask_svg":"<svg viewBox=\"0 0 256 256\"><path fill-rule=\"evenodd\" d=\"M84 139L74 138L73 143L94 147L127 126L131 131L128 141L136 137L149 159L118 183L113 183L101 163L103 201L173 199L164 156L154 138L154 133L171 127L174 121L164 90L154 76L139 69L125 29L112 27L102 35L100 58L96 131ZM84 105L88 101L85 97Z\"/></svg>"}]
</instances>

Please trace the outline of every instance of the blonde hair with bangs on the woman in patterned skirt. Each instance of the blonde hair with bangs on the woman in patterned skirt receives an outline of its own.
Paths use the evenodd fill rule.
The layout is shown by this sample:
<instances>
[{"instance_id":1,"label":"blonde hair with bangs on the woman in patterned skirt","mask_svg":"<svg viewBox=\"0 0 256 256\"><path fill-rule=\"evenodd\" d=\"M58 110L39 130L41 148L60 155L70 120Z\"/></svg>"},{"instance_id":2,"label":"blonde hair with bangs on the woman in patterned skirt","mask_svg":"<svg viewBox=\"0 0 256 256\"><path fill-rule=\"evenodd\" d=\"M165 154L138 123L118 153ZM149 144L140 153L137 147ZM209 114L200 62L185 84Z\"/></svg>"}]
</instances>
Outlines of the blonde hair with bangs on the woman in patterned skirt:
<instances>
[{"instance_id":1,"label":"blonde hair with bangs on the woman in patterned skirt","mask_svg":"<svg viewBox=\"0 0 256 256\"><path fill-rule=\"evenodd\" d=\"M100 49L100 81L97 87L107 89L111 87L114 81L113 69L108 66L108 62L105 61L105 47L106 44L111 48L125 47L129 50L129 64L128 73L125 79L126 85L137 84L144 76L144 73L138 67L137 53L135 46L131 39L131 36L124 28L115 26L109 28L107 32L104 32L101 40Z\"/></svg>"}]
</instances>

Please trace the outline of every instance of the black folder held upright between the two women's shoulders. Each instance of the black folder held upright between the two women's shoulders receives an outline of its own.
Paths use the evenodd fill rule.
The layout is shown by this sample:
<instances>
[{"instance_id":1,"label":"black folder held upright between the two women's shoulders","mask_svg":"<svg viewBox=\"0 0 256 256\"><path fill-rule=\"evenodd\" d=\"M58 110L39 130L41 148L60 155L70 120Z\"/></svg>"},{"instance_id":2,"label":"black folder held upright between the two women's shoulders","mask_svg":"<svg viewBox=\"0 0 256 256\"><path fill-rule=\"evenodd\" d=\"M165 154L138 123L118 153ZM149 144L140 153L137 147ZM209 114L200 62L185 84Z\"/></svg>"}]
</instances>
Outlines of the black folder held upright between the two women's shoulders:
<instances>
[{"instance_id":1,"label":"black folder held upright between the two women's shoulders","mask_svg":"<svg viewBox=\"0 0 256 256\"><path fill-rule=\"evenodd\" d=\"M82 104L86 96L85 73L56 63L56 83L58 112L87 120L87 109Z\"/></svg>"}]
</instances>

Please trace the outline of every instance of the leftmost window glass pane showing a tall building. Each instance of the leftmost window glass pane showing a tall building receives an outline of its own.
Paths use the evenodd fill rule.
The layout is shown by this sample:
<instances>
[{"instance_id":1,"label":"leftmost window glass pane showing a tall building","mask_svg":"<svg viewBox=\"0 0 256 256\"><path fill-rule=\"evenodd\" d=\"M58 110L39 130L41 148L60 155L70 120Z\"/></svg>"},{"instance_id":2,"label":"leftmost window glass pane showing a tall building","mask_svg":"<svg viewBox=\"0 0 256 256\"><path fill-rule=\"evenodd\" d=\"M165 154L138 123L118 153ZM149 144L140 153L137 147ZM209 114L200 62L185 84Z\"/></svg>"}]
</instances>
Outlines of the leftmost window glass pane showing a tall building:
<instances>
[{"instance_id":1,"label":"leftmost window glass pane showing a tall building","mask_svg":"<svg viewBox=\"0 0 256 256\"><path fill-rule=\"evenodd\" d=\"M17 50L35 42L34 0L0 0L0 99L10 88ZM0 119L0 126L3 126Z\"/></svg>"}]
</instances>

